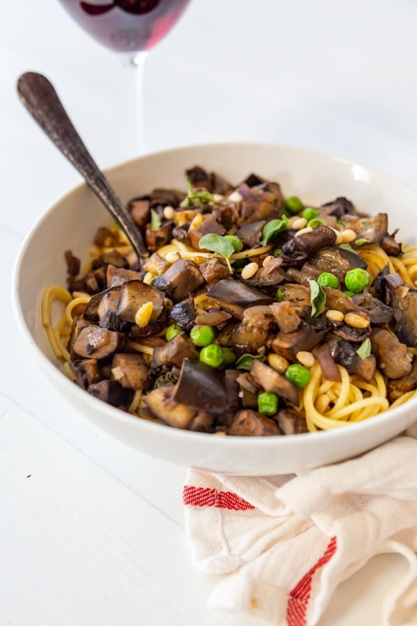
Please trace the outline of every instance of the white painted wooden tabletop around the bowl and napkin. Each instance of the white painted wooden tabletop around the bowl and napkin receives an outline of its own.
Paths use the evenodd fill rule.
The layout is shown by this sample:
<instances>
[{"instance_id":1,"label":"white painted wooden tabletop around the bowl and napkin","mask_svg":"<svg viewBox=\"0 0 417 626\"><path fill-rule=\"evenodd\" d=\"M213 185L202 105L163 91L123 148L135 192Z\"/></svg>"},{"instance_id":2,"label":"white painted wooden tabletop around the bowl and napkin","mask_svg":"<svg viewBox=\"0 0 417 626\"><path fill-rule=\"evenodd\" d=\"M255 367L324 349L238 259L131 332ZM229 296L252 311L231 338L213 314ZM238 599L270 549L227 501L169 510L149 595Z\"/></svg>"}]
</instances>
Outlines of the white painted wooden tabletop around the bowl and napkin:
<instances>
[{"instance_id":1,"label":"white painted wooden tabletop around the bowl and napkin","mask_svg":"<svg viewBox=\"0 0 417 626\"><path fill-rule=\"evenodd\" d=\"M102 167L136 148L120 59L55 0L2 0L0 15L0 625L249 625L206 609L212 583L183 530L185 468L97 431L49 386L19 335L17 250L80 178L19 104L17 77L35 70L54 82ZM147 61L147 151L275 141L415 186L416 25L413 0L194 0ZM320 626L378 626L384 589L404 568L373 559L338 588Z\"/></svg>"}]
</instances>

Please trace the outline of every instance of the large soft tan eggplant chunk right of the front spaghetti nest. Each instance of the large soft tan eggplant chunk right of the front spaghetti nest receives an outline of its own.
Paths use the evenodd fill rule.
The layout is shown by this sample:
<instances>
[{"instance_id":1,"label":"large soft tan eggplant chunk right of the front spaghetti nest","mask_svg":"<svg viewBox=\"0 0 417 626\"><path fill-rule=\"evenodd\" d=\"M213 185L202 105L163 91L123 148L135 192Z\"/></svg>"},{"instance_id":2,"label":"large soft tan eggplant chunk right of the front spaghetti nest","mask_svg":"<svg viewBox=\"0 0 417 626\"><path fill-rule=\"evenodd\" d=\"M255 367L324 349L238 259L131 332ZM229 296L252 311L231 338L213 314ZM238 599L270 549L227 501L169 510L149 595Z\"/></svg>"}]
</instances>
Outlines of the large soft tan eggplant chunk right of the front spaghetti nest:
<instances>
[{"instance_id":1,"label":"large soft tan eggplant chunk right of the front spaghetti nest","mask_svg":"<svg viewBox=\"0 0 417 626\"><path fill-rule=\"evenodd\" d=\"M407 346L402 344L390 330L373 328L370 334L372 351L377 358L377 367L388 378L402 378L411 374L413 366L407 355Z\"/></svg>"}]
</instances>

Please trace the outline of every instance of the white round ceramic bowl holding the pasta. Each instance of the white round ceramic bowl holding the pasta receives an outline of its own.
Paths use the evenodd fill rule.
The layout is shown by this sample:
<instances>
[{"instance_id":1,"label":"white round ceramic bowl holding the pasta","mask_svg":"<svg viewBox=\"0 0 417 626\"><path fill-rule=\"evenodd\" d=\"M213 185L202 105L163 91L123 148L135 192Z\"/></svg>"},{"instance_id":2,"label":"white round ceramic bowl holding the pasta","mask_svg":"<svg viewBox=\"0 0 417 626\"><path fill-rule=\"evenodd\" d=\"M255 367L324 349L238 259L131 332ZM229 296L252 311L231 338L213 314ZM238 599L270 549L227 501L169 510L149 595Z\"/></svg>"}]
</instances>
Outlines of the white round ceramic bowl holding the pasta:
<instances>
[{"instance_id":1,"label":"white round ceramic bowl holding the pasta","mask_svg":"<svg viewBox=\"0 0 417 626\"><path fill-rule=\"evenodd\" d=\"M387 212L390 230L400 229L398 240L416 243L416 233L410 230L417 207L416 191L375 170L320 152L256 143L199 145L150 154L107 173L117 193L127 201L155 186L185 188L184 172L197 164L235 184L250 172L258 173L279 182L285 195L300 195L311 204L345 195L370 214ZM48 385L55 385L68 402L108 434L181 465L261 476L297 472L356 456L416 421L417 399L331 431L265 438L218 437L132 417L81 390L58 370L40 320L40 296L49 284L65 286L64 250L71 249L85 261L97 226L106 223L111 223L111 218L84 184L58 200L22 246L13 298L24 335L46 371L45 392Z\"/></svg>"}]
</instances>

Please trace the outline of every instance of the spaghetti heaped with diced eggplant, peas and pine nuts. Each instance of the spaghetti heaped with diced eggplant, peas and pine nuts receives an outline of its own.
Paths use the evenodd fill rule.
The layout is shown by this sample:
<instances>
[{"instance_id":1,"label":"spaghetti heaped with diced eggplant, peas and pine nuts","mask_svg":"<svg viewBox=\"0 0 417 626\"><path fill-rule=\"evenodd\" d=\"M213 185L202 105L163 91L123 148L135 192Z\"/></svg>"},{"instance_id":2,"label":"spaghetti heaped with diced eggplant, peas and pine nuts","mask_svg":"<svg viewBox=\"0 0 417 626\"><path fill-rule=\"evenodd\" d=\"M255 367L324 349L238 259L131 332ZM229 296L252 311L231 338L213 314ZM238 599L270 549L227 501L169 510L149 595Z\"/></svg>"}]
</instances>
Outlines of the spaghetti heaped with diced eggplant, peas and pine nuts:
<instances>
[{"instance_id":1,"label":"spaghetti heaped with diced eggplant, peas and pine nuts","mask_svg":"<svg viewBox=\"0 0 417 626\"><path fill-rule=\"evenodd\" d=\"M187 170L188 193L129 202L149 248L99 227L87 270L43 295L49 341L76 384L144 419L225 435L319 431L416 394L417 248L350 200L284 198ZM51 303L65 318L50 327Z\"/></svg>"}]
</instances>

